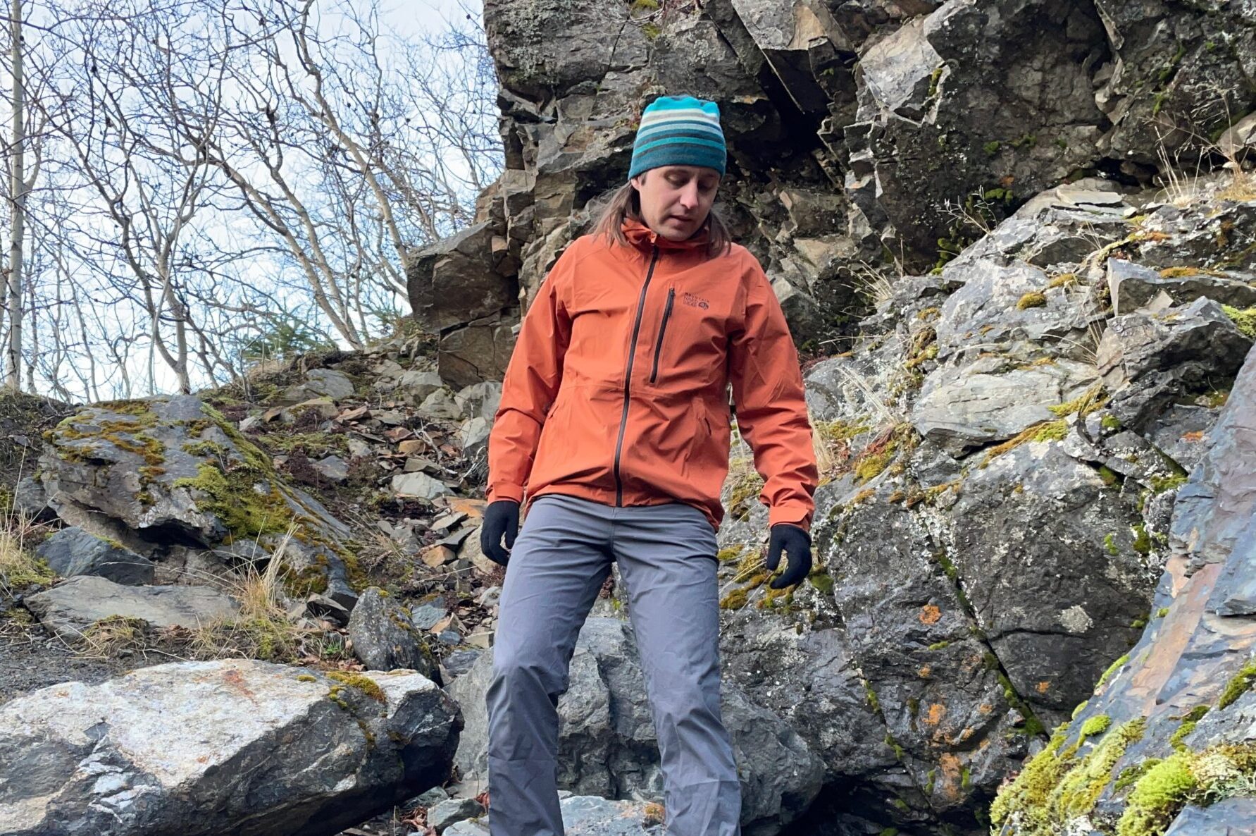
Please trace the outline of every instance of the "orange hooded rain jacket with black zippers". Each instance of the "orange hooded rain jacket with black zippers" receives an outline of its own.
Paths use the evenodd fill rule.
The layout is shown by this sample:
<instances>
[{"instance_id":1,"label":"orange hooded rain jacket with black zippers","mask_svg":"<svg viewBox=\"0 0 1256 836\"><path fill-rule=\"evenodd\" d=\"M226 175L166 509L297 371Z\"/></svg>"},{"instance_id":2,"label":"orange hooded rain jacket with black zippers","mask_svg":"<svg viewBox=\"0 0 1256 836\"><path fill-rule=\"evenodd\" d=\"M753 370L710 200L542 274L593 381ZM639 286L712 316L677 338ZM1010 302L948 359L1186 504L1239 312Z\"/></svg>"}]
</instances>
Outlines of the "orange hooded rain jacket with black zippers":
<instances>
[{"instance_id":1,"label":"orange hooded rain jacket with black zippers","mask_svg":"<svg viewBox=\"0 0 1256 836\"><path fill-rule=\"evenodd\" d=\"M816 487L798 352L759 261L627 221L584 235L524 317L489 437L487 499L683 502L718 529L728 385L769 524L810 528Z\"/></svg>"}]
</instances>

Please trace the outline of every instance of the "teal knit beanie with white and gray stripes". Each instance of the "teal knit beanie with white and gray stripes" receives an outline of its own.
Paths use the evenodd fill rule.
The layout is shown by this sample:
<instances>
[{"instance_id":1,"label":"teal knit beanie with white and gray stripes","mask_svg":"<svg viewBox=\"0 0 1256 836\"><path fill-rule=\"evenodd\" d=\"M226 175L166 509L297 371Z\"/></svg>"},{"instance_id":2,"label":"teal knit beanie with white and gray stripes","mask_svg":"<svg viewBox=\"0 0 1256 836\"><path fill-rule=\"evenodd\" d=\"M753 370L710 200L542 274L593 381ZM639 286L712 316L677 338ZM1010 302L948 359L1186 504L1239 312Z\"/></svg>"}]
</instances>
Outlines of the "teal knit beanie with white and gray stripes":
<instances>
[{"instance_id":1,"label":"teal knit beanie with white and gray stripes","mask_svg":"<svg viewBox=\"0 0 1256 836\"><path fill-rule=\"evenodd\" d=\"M723 176L725 157L720 107L715 102L661 96L641 114L628 179L659 166L703 166Z\"/></svg>"}]
</instances>

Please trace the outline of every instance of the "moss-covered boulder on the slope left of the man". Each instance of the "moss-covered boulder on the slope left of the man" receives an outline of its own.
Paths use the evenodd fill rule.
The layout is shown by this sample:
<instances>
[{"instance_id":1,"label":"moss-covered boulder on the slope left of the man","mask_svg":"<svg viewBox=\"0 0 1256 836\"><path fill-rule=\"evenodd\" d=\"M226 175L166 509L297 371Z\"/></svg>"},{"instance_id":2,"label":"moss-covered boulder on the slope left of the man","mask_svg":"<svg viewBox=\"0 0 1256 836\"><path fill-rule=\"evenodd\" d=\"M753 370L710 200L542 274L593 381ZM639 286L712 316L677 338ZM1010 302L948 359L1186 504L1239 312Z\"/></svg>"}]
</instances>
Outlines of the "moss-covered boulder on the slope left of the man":
<instances>
[{"instance_id":1,"label":"moss-covered boulder on the slope left of the man","mask_svg":"<svg viewBox=\"0 0 1256 836\"><path fill-rule=\"evenodd\" d=\"M45 434L39 473L63 520L146 557L255 541L266 553L283 547L294 596L357 600L344 523L191 395L80 410Z\"/></svg>"}]
</instances>

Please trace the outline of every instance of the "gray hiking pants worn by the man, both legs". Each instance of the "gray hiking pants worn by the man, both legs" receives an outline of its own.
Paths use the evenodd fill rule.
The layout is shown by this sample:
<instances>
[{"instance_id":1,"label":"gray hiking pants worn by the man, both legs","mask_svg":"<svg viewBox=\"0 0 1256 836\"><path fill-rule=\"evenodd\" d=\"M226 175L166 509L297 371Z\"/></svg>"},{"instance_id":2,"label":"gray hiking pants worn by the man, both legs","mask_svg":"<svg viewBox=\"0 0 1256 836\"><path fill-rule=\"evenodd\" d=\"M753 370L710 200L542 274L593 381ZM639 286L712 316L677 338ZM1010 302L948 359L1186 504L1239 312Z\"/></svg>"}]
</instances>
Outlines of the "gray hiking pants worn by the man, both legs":
<instances>
[{"instance_id":1,"label":"gray hiking pants worn by the man, both legs","mask_svg":"<svg viewBox=\"0 0 1256 836\"><path fill-rule=\"evenodd\" d=\"M715 556L711 523L690 505L533 502L501 591L487 693L492 836L563 836L558 698L612 561L654 715L667 833L740 833L741 784L720 717Z\"/></svg>"}]
</instances>

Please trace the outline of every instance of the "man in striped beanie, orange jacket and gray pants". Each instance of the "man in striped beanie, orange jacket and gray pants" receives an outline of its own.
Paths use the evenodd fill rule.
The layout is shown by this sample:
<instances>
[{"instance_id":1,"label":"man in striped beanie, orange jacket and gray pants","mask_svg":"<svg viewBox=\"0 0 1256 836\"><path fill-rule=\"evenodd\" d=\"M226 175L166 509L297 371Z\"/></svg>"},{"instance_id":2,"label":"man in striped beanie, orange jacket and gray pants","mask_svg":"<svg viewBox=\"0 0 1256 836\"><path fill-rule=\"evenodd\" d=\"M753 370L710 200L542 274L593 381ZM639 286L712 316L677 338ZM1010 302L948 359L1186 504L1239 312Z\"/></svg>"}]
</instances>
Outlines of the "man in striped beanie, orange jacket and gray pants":
<instances>
[{"instance_id":1,"label":"man in striped beanie, orange jacket and gray pants","mask_svg":"<svg viewBox=\"0 0 1256 836\"><path fill-rule=\"evenodd\" d=\"M492 836L563 833L555 707L612 561L646 673L667 832L739 833L715 537L730 385L765 478L767 568L789 558L775 588L810 572L816 466L780 304L711 211L725 158L713 102L648 106L629 182L524 317L489 440L481 533L485 553L509 562L487 693Z\"/></svg>"}]
</instances>

